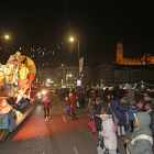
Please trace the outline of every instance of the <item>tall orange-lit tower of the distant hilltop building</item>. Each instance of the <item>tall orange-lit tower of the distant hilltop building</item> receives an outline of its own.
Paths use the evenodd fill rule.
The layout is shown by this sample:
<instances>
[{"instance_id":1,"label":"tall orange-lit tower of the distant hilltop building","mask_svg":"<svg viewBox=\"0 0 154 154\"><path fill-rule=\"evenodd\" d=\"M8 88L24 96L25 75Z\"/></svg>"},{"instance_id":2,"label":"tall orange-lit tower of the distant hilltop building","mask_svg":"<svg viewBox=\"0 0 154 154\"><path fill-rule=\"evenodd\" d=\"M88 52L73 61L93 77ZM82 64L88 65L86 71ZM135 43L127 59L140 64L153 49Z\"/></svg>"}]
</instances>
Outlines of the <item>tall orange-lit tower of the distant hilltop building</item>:
<instances>
[{"instance_id":1,"label":"tall orange-lit tower of the distant hilltop building","mask_svg":"<svg viewBox=\"0 0 154 154\"><path fill-rule=\"evenodd\" d=\"M122 43L119 42L117 45L117 63L121 63L123 58L123 46Z\"/></svg>"}]
</instances>

